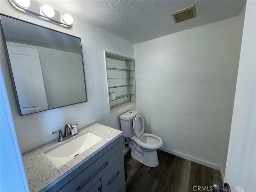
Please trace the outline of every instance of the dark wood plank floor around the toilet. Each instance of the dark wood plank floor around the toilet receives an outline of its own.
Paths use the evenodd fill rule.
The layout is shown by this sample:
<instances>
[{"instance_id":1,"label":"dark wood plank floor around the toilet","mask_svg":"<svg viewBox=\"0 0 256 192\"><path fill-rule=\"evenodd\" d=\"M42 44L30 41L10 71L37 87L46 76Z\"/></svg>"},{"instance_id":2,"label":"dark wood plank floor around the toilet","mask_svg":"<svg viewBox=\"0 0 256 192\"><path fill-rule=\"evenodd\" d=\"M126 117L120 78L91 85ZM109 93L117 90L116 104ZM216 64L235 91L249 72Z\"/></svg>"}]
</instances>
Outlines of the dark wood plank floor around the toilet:
<instances>
[{"instance_id":1,"label":"dark wood plank floor around the toilet","mask_svg":"<svg viewBox=\"0 0 256 192\"><path fill-rule=\"evenodd\" d=\"M191 162L184 158L157 151L159 165L154 168L144 166L131 157L129 151L124 156L128 173L126 192L194 192L193 186L207 187L210 191L212 180L222 184L220 171ZM193 190L194 189L194 190Z\"/></svg>"}]
</instances>

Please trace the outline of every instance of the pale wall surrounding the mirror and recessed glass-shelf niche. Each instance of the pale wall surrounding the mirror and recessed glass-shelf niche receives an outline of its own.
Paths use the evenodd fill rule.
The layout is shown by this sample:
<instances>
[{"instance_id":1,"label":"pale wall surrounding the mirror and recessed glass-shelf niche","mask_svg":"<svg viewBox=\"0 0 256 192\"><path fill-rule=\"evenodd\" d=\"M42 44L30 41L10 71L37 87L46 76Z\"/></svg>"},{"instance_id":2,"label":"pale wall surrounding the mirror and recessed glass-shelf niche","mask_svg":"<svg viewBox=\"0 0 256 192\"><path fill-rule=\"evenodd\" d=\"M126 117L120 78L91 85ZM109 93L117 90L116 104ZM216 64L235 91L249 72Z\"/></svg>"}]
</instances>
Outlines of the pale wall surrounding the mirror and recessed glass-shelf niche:
<instances>
[{"instance_id":1,"label":"pale wall surrounding the mirror and recessed glass-shelf niche","mask_svg":"<svg viewBox=\"0 0 256 192\"><path fill-rule=\"evenodd\" d=\"M22 153L57 139L58 135L52 135L52 132L60 129L64 130L66 123L77 122L78 129L93 122L100 122L116 129L120 128L118 116L136 106L131 104L111 114L109 113L104 51L133 58L132 44L100 28L90 26L76 17L73 17L73 27L66 29L21 13L15 10L8 1L1 1L0 11L6 15L78 36L82 42L88 102L21 117L18 115L6 55L1 46L1 68L4 73L14 126Z\"/></svg>"}]
</instances>

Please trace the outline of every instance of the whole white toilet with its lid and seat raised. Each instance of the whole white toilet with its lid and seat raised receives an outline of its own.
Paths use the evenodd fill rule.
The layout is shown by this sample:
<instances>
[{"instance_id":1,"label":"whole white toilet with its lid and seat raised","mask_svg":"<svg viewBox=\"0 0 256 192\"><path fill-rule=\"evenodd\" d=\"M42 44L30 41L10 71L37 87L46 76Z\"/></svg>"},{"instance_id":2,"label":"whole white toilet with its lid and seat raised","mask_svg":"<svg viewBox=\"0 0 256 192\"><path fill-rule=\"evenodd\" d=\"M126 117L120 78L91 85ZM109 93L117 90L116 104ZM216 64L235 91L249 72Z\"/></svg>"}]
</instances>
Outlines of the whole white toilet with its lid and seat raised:
<instances>
[{"instance_id":1,"label":"whole white toilet with its lid and seat raised","mask_svg":"<svg viewBox=\"0 0 256 192\"><path fill-rule=\"evenodd\" d=\"M156 150L162 145L160 137L144 133L144 118L138 110L130 110L120 117L123 136L129 138L132 158L148 167L158 166Z\"/></svg>"}]
</instances>

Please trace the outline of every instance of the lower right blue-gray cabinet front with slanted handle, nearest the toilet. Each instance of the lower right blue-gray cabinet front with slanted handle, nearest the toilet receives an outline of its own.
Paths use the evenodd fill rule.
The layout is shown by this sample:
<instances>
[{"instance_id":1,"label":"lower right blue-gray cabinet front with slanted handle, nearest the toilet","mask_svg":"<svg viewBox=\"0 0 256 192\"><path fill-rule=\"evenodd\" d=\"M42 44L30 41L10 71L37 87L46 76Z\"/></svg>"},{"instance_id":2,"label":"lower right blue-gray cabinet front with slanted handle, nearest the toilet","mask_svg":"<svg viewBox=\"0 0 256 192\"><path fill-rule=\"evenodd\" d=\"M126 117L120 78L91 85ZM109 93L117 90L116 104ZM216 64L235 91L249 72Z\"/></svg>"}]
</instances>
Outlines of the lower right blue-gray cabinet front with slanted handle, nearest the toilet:
<instances>
[{"instance_id":1,"label":"lower right blue-gray cabinet front with slanted handle, nearest the toilet","mask_svg":"<svg viewBox=\"0 0 256 192\"><path fill-rule=\"evenodd\" d=\"M103 192L125 192L124 162L122 158L101 178Z\"/></svg>"}]
</instances>

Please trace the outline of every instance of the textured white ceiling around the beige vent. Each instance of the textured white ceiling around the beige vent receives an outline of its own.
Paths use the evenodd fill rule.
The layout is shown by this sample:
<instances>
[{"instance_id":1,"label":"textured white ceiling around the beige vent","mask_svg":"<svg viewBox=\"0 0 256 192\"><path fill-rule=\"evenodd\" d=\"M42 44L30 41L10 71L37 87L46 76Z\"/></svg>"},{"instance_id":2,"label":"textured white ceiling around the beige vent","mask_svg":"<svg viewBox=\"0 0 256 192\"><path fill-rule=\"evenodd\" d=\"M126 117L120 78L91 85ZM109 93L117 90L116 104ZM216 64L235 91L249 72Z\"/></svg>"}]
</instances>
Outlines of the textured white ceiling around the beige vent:
<instances>
[{"instance_id":1,"label":"textured white ceiling around the beige vent","mask_svg":"<svg viewBox=\"0 0 256 192\"><path fill-rule=\"evenodd\" d=\"M61 12L132 44L238 16L246 0L44 0ZM172 13L196 5L196 18L175 24Z\"/></svg>"}]
</instances>

